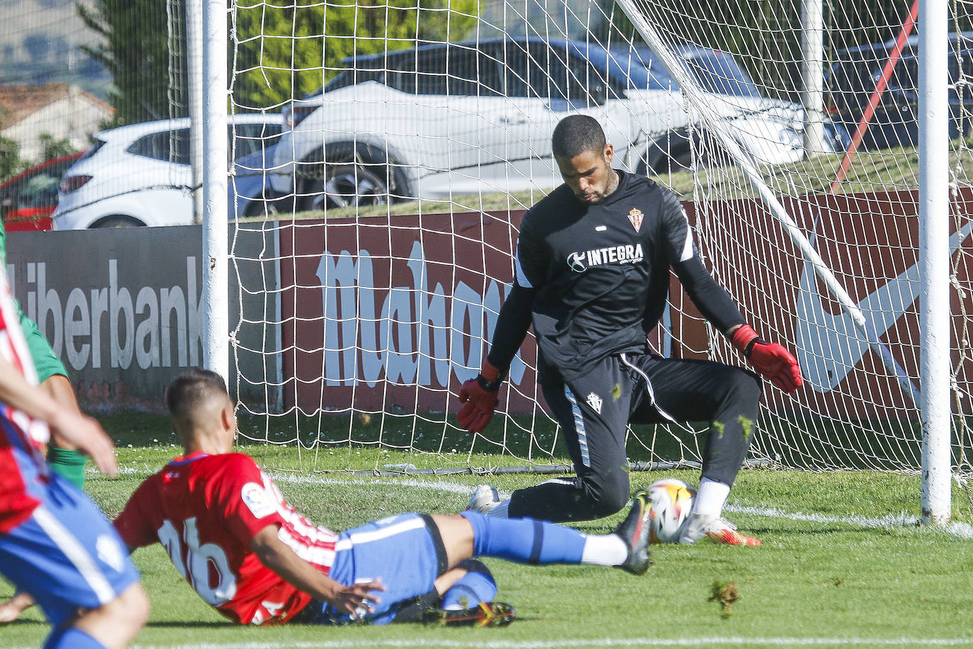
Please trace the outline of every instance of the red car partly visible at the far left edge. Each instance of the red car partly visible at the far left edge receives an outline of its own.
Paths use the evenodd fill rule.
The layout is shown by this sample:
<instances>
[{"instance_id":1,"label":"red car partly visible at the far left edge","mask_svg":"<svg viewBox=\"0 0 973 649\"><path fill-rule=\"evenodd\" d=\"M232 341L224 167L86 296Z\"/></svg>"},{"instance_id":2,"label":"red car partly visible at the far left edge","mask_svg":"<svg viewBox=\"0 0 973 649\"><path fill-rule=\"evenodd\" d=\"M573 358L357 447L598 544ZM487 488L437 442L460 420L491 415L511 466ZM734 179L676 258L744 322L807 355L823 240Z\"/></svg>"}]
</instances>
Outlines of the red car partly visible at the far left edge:
<instances>
[{"instance_id":1,"label":"red car partly visible at the far left edge","mask_svg":"<svg viewBox=\"0 0 973 649\"><path fill-rule=\"evenodd\" d=\"M57 205L57 186L64 172L82 153L41 162L0 185L0 211L9 233L51 230L51 213Z\"/></svg>"}]
</instances>

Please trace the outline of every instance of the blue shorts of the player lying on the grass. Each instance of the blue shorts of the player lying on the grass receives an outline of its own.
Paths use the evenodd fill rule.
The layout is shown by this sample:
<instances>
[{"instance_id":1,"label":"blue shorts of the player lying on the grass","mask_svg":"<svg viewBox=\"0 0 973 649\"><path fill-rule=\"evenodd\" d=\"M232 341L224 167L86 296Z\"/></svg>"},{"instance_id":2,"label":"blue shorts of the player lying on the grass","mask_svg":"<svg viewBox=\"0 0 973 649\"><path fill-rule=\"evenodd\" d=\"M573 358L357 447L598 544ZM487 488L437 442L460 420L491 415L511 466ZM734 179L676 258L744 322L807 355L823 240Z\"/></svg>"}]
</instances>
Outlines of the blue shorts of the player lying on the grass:
<instances>
[{"instance_id":1,"label":"blue shorts of the player lying on the grass","mask_svg":"<svg viewBox=\"0 0 973 649\"><path fill-rule=\"evenodd\" d=\"M387 625L399 606L433 590L446 572L446 550L429 517L400 514L342 532L329 577L350 586L381 577L385 591L375 613L360 612L366 624ZM347 624L351 616L327 602L311 601L294 620L305 624Z\"/></svg>"}]
</instances>

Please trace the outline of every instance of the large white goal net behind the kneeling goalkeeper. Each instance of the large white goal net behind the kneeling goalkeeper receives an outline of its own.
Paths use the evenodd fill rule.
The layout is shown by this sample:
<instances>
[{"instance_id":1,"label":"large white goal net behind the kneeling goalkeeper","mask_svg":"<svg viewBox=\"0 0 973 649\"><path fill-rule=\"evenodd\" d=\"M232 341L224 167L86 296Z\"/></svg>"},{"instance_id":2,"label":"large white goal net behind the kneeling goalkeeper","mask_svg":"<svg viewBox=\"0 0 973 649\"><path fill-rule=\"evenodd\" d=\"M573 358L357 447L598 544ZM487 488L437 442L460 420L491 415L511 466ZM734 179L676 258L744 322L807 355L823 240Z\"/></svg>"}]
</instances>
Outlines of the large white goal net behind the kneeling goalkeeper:
<instances>
[{"instance_id":1,"label":"large white goal net behind the kneeling goalkeeper","mask_svg":"<svg viewBox=\"0 0 973 649\"><path fill-rule=\"evenodd\" d=\"M970 9L951 4L949 46L962 476ZM248 205L231 243L243 433L307 451L305 469L563 461L529 335L483 434L459 428L456 395L486 355L523 211L560 182L553 127L585 113L620 168L679 195L707 267L800 361L795 395L767 386L751 459L918 471L914 22L878 1L234 1L233 112L283 116L231 177ZM674 278L649 343L742 364ZM631 460L698 462L700 429L636 426Z\"/></svg>"}]
</instances>

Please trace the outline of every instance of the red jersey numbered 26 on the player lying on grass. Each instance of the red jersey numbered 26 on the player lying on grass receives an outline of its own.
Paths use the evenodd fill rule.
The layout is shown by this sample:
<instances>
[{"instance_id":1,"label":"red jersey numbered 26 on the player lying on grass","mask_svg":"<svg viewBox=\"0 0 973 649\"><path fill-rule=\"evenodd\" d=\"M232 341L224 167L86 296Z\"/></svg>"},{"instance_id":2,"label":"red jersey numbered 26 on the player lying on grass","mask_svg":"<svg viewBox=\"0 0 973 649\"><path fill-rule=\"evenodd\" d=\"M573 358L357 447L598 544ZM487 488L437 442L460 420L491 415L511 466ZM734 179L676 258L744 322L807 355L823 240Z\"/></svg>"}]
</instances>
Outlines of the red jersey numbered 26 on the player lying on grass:
<instances>
[{"instance_id":1,"label":"red jersey numbered 26 on the player lying on grass","mask_svg":"<svg viewBox=\"0 0 973 649\"><path fill-rule=\"evenodd\" d=\"M328 574L338 534L310 523L242 453L177 457L148 478L115 521L129 548L159 541L204 601L236 624L280 624L310 595L260 562L250 541L279 525L278 538Z\"/></svg>"}]
</instances>

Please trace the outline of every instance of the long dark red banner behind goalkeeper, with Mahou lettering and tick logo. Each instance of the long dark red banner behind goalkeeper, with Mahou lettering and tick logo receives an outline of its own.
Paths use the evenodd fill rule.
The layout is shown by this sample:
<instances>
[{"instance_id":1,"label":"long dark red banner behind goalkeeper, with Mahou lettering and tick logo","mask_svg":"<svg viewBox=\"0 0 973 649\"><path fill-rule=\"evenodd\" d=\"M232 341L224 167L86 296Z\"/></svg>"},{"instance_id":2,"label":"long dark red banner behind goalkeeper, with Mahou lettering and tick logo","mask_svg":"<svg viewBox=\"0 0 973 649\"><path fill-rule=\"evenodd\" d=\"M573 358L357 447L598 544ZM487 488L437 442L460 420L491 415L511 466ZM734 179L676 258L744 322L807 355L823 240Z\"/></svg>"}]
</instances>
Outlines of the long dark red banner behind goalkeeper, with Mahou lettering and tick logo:
<instances>
[{"instance_id":1,"label":"long dark red banner behind goalkeeper, with Mahou lettering and tick logo","mask_svg":"<svg viewBox=\"0 0 973 649\"><path fill-rule=\"evenodd\" d=\"M783 200L892 357L917 377L917 193ZM765 338L793 346L808 379L799 399L811 410L867 417L877 409L911 408L898 379L766 207L749 199L685 206L691 222L699 211L703 253L719 250L706 263L744 315L760 324ZM954 216L973 214L969 188L955 196L953 209ZM482 341L490 339L509 291L522 216L467 212L284 225L287 405L306 413L352 404L366 411L456 410L454 395L476 376L486 353ZM954 235L954 252L971 228ZM969 281L964 264L955 264L955 273L960 284ZM672 356L703 353L703 320L676 281L671 301L671 338L656 332L650 343ZM973 305L966 308L973 312ZM966 336L965 321L956 327L957 337ZM528 337L511 368L508 412L528 412L539 400L535 353ZM768 390L768 405L794 408L775 390Z\"/></svg>"}]
</instances>

